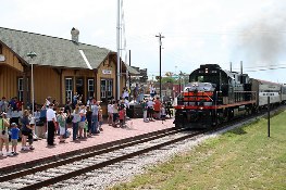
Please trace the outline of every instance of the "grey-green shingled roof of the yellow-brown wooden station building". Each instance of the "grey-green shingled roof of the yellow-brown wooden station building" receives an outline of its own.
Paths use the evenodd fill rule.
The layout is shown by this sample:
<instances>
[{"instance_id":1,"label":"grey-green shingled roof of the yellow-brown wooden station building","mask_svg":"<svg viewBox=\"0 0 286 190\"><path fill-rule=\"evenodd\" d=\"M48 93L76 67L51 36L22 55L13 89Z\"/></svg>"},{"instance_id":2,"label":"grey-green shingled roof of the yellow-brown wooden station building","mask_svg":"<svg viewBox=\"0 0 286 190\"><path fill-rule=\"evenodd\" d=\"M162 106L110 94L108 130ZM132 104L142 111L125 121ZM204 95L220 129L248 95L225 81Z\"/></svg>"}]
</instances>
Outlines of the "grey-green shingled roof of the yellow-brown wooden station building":
<instances>
[{"instance_id":1,"label":"grey-green shingled roof of the yellow-brown wooden station building","mask_svg":"<svg viewBox=\"0 0 286 190\"><path fill-rule=\"evenodd\" d=\"M88 68L79 52L79 50L83 50L91 68L98 68L111 52L111 50L97 46L76 43L69 39L3 27L0 27L0 41L26 63L30 62L27 53L34 51L37 53L37 56L33 59L34 64L54 67ZM125 66L127 65L125 64ZM129 67L127 69L129 71ZM133 69L129 72L132 74L138 73Z\"/></svg>"}]
</instances>

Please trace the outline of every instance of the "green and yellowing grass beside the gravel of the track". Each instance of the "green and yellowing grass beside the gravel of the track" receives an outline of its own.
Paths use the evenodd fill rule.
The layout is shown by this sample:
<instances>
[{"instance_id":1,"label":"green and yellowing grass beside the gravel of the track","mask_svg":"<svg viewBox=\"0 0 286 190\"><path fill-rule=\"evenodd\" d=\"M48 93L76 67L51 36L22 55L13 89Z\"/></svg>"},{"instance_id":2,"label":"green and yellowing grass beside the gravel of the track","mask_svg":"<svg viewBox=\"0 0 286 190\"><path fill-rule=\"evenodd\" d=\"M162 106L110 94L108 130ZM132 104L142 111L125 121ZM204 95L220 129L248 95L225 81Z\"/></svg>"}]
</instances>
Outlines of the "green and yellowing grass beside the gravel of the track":
<instances>
[{"instance_id":1,"label":"green and yellowing grass beside the gravel of the track","mask_svg":"<svg viewBox=\"0 0 286 190\"><path fill-rule=\"evenodd\" d=\"M121 189L286 189L286 112L208 139Z\"/></svg>"}]
</instances>

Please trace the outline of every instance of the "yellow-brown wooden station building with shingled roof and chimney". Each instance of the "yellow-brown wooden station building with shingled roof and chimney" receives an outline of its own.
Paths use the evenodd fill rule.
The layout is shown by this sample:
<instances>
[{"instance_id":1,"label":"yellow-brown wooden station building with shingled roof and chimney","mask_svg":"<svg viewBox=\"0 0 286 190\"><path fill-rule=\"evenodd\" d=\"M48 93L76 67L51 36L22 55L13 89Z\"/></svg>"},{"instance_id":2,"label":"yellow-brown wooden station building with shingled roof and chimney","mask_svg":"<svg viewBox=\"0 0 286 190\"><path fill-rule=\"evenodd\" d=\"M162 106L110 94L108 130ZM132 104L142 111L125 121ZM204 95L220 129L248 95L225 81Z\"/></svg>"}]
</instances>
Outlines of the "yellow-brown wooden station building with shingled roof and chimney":
<instances>
[{"instance_id":1,"label":"yellow-brown wooden station building with shingled roof and chimney","mask_svg":"<svg viewBox=\"0 0 286 190\"><path fill-rule=\"evenodd\" d=\"M117 68L116 52L79 42L76 28L71 34L69 40L0 27L0 98L17 97L24 104L30 103L33 67L35 103L52 97L65 104L77 92L83 102L95 97L104 105L121 93L116 91L117 69L124 73L120 89L125 86L126 73L138 74L123 62ZM36 56L28 56L29 52Z\"/></svg>"}]
</instances>

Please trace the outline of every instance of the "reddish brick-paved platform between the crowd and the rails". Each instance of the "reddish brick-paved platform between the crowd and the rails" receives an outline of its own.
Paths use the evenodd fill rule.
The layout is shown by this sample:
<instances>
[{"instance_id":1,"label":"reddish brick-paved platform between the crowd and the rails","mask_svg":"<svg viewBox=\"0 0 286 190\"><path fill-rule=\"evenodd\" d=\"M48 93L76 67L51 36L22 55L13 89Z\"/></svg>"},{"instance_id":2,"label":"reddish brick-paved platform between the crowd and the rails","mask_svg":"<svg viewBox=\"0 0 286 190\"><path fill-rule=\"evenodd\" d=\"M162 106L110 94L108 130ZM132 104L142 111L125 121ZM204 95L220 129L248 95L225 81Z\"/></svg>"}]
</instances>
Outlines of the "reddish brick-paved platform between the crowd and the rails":
<instances>
[{"instance_id":1,"label":"reddish brick-paved platform between the crowd and the rails","mask_svg":"<svg viewBox=\"0 0 286 190\"><path fill-rule=\"evenodd\" d=\"M79 142L72 141L72 135L65 140L65 143L59 143L58 137L55 138L55 147L48 148L47 140L41 139L34 142L35 150L33 151L21 151L21 142L17 144L18 155L16 156L0 156L0 169L8 166L17 165L20 163L26 163L29 161L36 161L58 154L75 151L105 142L121 140L128 137L134 137L151 131L157 131L165 128L174 127L173 118L166 119L163 124L161 121L144 123L142 118L132 118L127 122L127 128L114 128L108 124L103 124L103 131L100 135L92 136ZM69 129L72 131L72 129ZM10 147L11 150L11 147ZM3 149L5 152L5 149Z\"/></svg>"}]
</instances>

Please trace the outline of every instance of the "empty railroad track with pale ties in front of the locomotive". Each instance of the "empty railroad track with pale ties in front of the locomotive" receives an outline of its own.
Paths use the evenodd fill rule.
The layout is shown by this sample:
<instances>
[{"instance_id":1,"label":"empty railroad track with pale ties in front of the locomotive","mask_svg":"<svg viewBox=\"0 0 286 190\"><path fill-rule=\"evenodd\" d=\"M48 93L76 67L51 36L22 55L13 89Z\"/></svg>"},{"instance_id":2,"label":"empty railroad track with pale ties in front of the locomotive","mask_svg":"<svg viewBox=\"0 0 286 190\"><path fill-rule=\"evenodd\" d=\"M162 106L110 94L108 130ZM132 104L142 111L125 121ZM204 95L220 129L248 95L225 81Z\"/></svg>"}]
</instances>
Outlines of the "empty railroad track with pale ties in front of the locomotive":
<instances>
[{"instance_id":1,"label":"empty railroad track with pale ties in front of the locomotive","mask_svg":"<svg viewBox=\"0 0 286 190\"><path fill-rule=\"evenodd\" d=\"M185 130L172 128L99 151L8 173L0 177L0 189L39 189L203 132L183 132Z\"/></svg>"}]
</instances>

